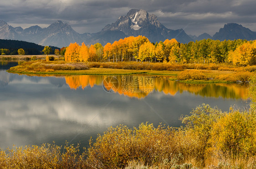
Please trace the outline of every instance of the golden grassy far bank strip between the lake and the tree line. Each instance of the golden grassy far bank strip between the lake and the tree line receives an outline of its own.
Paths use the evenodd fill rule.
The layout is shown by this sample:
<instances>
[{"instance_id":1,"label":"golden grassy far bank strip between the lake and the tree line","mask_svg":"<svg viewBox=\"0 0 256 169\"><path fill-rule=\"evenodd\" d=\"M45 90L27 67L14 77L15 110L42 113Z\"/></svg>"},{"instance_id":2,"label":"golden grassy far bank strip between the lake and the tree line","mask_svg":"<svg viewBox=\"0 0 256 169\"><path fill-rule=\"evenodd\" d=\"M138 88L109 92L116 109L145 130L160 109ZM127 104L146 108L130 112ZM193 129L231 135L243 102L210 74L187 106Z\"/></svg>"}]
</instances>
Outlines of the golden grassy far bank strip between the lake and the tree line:
<instances>
[{"instance_id":1,"label":"golden grassy far bank strip between the lake and the tree line","mask_svg":"<svg viewBox=\"0 0 256 169\"><path fill-rule=\"evenodd\" d=\"M65 62L34 60L7 70L26 75L159 75L182 83L249 83L256 66L148 62Z\"/></svg>"}]
</instances>

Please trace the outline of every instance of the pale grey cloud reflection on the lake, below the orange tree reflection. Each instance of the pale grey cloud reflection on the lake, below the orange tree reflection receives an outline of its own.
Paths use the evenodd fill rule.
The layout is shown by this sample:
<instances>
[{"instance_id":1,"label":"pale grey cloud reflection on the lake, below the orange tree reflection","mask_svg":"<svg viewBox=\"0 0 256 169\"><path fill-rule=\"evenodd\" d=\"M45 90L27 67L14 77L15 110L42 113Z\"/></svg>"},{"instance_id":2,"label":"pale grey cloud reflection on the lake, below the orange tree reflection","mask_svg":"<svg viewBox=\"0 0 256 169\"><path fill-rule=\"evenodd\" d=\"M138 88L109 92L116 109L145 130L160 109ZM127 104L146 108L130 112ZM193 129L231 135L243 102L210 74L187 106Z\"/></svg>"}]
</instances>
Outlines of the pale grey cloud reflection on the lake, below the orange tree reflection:
<instances>
[{"instance_id":1,"label":"pale grey cloud reflection on the lake, below the orange tree reflection","mask_svg":"<svg viewBox=\"0 0 256 169\"><path fill-rule=\"evenodd\" d=\"M164 123L154 111L177 127L181 124L181 114L189 114L192 108L202 103L220 105L221 109L228 109L234 103L242 105L240 100L212 99L189 92L178 92L173 96L154 91L142 100L118 93L109 94L100 85L72 90L66 85L66 80L59 77L7 72L3 75L9 78L9 85L0 88L1 148L12 144L51 143L53 140L64 144L76 134L78 137L73 143L80 140L87 144L91 135L102 134L110 126L138 127L147 121L155 126Z\"/></svg>"}]
</instances>

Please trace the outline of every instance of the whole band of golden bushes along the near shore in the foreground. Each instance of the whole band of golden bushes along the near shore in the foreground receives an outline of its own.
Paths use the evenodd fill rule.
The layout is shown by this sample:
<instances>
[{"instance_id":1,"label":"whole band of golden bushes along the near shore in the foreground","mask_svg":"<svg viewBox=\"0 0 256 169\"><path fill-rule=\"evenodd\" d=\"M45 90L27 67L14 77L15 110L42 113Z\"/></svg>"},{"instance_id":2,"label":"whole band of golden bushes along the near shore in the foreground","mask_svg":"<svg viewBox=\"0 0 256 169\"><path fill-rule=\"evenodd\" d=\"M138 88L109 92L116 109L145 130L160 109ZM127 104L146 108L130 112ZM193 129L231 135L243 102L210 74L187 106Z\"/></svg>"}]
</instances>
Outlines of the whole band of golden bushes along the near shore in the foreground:
<instances>
[{"instance_id":1,"label":"whole band of golden bushes along the near shore in the foreground","mask_svg":"<svg viewBox=\"0 0 256 169\"><path fill-rule=\"evenodd\" d=\"M254 80L255 82L255 80ZM253 86L255 88L255 86ZM254 100L255 101L255 100ZM6 169L254 169L255 102L247 110L222 112L202 104L181 116L184 127L140 124L110 127L80 152L66 143L0 149Z\"/></svg>"}]
</instances>

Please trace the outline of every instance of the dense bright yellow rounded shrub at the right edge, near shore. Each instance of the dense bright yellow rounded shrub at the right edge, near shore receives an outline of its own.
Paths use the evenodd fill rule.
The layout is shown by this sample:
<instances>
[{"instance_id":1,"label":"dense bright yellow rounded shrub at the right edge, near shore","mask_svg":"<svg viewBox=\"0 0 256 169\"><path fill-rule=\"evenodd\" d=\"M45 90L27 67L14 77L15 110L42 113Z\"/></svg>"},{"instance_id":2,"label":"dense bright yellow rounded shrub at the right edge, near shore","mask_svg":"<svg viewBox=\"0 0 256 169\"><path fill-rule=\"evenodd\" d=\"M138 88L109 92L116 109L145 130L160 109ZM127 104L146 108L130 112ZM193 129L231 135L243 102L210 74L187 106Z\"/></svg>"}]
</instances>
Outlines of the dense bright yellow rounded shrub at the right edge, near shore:
<instances>
[{"instance_id":1,"label":"dense bright yellow rounded shrub at the right edge, near shore","mask_svg":"<svg viewBox=\"0 0 256 169\"><path fill-rule=\"evenodd\" d=\"M215 155L248 157L256 155L255 117L248 112L231 110L212 129L212 151Z\"/></svg>"}]
</instances>

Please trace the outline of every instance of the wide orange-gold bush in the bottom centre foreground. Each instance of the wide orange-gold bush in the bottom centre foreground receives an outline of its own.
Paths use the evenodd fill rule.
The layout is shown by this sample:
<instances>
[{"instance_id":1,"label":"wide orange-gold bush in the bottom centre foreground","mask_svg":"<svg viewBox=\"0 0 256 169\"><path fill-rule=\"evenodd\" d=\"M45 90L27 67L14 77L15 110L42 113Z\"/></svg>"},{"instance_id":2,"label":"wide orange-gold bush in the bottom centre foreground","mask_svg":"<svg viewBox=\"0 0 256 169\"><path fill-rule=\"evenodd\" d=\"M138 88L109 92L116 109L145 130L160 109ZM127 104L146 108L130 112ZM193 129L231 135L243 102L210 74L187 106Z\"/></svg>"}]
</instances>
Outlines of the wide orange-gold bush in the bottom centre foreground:
<instances>
[{"instance_id":1,"label":"wide orange-gold bush in the bottom centre foreground","mask_svg":"<svg viewBox=\"0 0 256 169\"><path fill-rule=\"evenodd\" d=\"M152 165L173 157L172 131L162 125L154 128L153 124L140 124L138 129L111 127L98 135L94 144L90 141L87 162L92 168L123 168L132 160Z\"/></svg>"}]
</instances>

